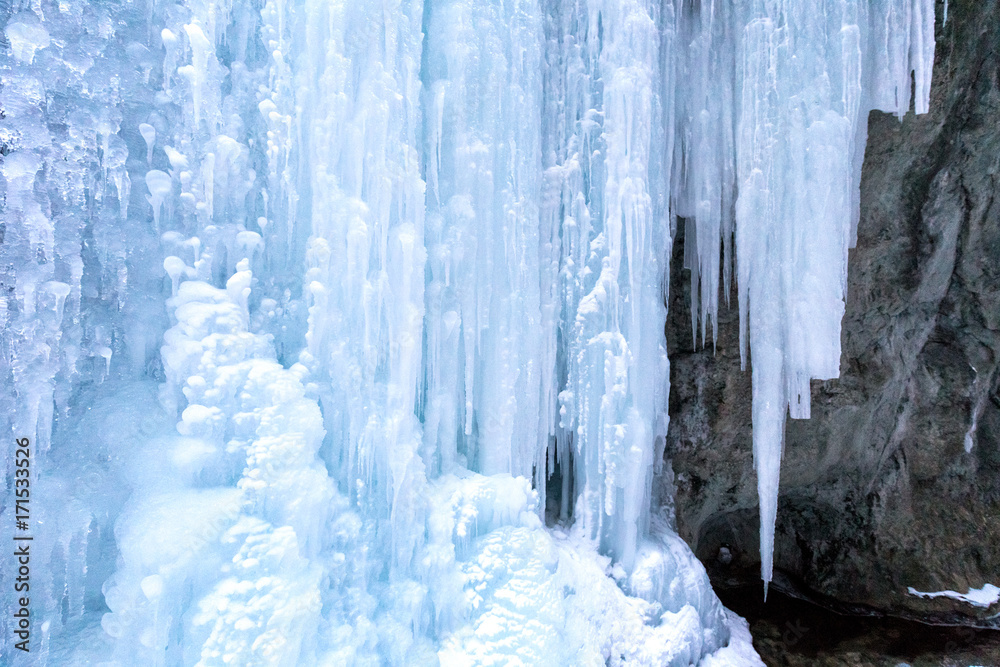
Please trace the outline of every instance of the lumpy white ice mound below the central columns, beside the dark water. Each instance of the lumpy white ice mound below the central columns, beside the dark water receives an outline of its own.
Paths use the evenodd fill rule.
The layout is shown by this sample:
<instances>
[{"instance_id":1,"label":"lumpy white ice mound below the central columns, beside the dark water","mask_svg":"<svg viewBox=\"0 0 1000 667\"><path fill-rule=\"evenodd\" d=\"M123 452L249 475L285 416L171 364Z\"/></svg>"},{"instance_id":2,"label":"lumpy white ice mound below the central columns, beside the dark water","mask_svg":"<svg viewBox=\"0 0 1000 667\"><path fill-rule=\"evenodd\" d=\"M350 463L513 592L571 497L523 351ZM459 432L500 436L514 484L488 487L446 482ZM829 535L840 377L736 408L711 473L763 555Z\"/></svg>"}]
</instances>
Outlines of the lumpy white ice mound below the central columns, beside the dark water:
<instances>
[{"instance_id":1,"label":"lumpy white ice mound below the central columns, beside the dark water","mask_svg":"<svg viewBox=\"0 0 1000 667\"><path fill-rule=\"evenodd\" d=\"M723 608L676 535L654 538L646 552L687 576L639 592L644 574L616 582L623 570L582 527L543 531L527 509L522 526L462 550L471 619L445 639L442 664L687 665L726 644Z\"/></svg>"}]
</instances>

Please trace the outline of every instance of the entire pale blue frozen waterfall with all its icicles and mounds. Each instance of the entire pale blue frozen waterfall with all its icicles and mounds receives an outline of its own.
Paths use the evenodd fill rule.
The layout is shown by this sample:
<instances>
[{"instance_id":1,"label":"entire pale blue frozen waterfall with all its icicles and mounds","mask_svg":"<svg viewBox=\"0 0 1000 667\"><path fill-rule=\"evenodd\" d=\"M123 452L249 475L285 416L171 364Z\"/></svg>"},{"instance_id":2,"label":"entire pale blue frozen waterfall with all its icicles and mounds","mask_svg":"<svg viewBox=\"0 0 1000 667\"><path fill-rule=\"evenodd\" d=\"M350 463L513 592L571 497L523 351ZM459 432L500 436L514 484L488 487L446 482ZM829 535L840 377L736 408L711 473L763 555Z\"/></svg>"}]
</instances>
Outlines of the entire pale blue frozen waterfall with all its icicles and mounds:
<instances>
[{"instance_id":1,"label":"entire pale blue frozen waterfall with all its icicles and mounds","mask_svg":"<svg viewBox=\"0 0 1000 667\"><path fill-rule=\"evenodd\" d=\"M735 263L766 582L867 112L911 72L926 111L932 2L10 10L0 427L37 565L5 661L758 664L651 507L671 232L703 341Z\"/></svg>"}]
</instances>

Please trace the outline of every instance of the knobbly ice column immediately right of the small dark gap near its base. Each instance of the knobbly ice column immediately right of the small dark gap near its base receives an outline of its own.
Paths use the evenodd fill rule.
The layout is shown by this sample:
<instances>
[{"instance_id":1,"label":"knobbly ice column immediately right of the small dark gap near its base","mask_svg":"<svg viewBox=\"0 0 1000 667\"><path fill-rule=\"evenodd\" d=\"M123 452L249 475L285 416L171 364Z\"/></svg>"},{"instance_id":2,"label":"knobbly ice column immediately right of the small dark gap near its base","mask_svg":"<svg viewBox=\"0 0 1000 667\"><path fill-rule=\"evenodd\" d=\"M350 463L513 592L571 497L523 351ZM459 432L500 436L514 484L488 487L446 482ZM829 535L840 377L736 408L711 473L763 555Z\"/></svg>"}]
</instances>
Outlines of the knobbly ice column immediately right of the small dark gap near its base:
<instances>
[{"instance_id":1,"label":"knobbly ice column immediately right of the small dark gap near its base","mask_svg":"<svg viewBox=\"0 0 1000 667\"><path fill-rule=\"evenodd\" d=\"M575 518L626 568L647 527L667 425L664 128L672 108L664 84L672 61L660 49L674 16L669 4L660 11L643 2L582 3L553 12L549 29L562 50L549 76L566 91L566 130L546 150L543 200L543 219L563 216L565 389L555 455L565 479L572 448Z\"/></svg>"}]
</instances>

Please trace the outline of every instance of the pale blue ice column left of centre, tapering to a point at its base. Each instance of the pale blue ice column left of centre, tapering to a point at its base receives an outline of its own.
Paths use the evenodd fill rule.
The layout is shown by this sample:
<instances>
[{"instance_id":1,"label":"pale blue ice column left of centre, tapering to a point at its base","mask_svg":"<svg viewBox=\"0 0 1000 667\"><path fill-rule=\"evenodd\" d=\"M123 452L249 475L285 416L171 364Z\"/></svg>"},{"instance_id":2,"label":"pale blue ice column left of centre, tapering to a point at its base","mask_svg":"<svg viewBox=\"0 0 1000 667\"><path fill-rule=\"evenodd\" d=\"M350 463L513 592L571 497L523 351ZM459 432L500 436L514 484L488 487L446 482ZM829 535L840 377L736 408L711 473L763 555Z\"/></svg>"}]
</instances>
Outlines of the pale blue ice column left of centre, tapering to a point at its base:
<instances>
[{"instance_id":1,"label":"pale blue ice column left of centre, tapering to a point at its base","mask_svg":"<svg viewBox=\"0 0 1000 667\"><path fill-rule=\"evenodd\" d=\"M296 39L272 63L280 73L285 58L299 62L294 108L285 108L299 139L295 224L308 231L301 359L322 387L329 464L366 516L389 521L379 539L403 575L420 541L426 483L416 417L425 262L416 148L421 14L419 2L307 2L286 14ZM361 38L369 31L375 42Z\"/></svg>"}]
</instances>

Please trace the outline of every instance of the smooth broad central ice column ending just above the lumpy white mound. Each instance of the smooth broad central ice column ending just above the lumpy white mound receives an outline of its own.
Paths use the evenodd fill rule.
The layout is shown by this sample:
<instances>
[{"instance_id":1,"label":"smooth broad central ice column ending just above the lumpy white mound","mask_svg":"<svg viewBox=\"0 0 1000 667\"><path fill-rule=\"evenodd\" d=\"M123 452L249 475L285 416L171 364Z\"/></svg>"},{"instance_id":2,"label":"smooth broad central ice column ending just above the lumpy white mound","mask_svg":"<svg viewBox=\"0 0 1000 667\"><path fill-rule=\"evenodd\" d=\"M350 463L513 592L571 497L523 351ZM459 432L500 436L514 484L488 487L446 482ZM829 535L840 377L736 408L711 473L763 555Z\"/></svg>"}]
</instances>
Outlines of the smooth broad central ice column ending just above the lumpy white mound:
<instances>
[{"instance_id":1,"label":"smooth broad central ice column ending just above the lumpy white mound","mask_svg":"<svg viewBox=\"0 0 1000 667\"><path fill-rule=\"evenodd\" d=\"M425 458L541 482L555 327L540 272L551 285L556 265L539 231L541 12L442 1L427 26Z\"/></svg>"}]
</instances>

